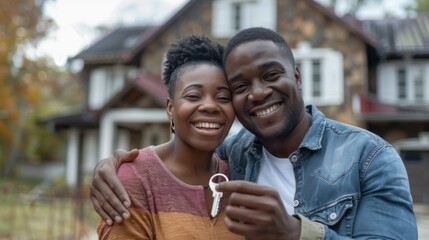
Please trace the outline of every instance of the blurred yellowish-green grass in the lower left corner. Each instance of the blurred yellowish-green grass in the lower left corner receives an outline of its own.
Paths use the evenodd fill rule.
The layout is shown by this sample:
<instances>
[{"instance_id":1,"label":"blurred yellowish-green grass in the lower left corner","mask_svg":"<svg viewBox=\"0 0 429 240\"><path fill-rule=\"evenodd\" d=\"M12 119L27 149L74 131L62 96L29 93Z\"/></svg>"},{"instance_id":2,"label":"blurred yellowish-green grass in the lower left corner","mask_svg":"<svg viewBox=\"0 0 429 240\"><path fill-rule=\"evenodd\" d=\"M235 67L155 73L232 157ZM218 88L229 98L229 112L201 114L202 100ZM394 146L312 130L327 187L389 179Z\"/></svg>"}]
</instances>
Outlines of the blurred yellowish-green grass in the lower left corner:
<instances>
[{"instance_id":1,"label":"blurred yellowish-green grass in the lower left corner","mask_svg":"<svg viewBox=\"0 0 429 240\"><path fill-rule=\"evenodd\" d=\"M27 193L38 184L0 179L0 239L79 239L95 230L98 216L87 197L54 184L36 200ZM87 194L82 196L88 196Z\"/></svg>"}]
</instances>

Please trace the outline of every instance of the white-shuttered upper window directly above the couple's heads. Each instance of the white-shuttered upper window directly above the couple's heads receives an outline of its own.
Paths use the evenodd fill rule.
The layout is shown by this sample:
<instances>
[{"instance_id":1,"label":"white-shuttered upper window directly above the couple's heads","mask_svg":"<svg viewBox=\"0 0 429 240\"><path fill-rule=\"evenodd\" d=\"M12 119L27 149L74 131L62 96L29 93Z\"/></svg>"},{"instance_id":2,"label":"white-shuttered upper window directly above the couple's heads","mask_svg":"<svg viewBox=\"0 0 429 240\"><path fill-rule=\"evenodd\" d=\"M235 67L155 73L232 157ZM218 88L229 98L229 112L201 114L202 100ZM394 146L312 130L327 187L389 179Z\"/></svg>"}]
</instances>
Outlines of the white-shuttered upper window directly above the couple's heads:
<instances>
[{"instance_id":1,"label":"white-shuttered upper window directly above the couple's heads","mask_svg":"<svg viewBox=\"0 0 429 240\"><path fill-rule=\"evenodd\" d=\"M212 34L230 38L248 27L276 30L277 0L213 0Z\"/></svg>"}]
</instances>

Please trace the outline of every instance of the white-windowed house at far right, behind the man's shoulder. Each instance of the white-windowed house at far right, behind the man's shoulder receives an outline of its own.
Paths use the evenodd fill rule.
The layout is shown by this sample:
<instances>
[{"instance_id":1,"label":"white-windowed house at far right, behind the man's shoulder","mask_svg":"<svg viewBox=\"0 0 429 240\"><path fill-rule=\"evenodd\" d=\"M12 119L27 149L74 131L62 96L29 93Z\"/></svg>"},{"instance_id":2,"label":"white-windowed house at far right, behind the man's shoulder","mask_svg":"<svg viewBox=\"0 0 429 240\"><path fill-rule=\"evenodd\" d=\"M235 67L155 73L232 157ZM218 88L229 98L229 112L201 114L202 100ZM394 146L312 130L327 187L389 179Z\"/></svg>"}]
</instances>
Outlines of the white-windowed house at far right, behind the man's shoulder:
<instances>
[{"instance_id":1,"label":"white-windowed house at far right, behind the man's shoulder","mask_svg":"<svg viewBox=\"0 0 429 240\"><path fill-rule=\"evenodd\" d=\"M358 116L401 154L414 201L429 203L429 15L360 25L380 46Z\"/></svg>"}]
</instances>

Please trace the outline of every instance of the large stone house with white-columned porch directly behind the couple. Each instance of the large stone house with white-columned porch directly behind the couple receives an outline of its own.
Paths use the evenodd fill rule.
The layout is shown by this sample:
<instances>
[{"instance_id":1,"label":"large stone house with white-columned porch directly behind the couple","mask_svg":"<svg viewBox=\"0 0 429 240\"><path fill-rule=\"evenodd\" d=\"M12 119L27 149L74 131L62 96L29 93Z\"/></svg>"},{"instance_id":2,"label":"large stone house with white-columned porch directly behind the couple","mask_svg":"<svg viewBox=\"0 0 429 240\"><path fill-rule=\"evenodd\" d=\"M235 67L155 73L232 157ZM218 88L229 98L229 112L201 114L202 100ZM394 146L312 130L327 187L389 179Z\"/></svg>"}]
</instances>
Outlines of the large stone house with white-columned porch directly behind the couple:
<instances>
[{"instance_id":1,"label":"large stone house with white-columned porch directly behind the couple","mask_svg":"<svg viewBox=\"0 0 429 240\"><path fill-rule=\"evenodd\" d=\"M393 98L385 97L393 91L384 82L390 79L385 74L391 60L413 57L390 56L383 38L367 24L371 25L341 18L314 0L189 0L161 26L113 30L75 57L84 61L86 108L46 121L53 129L68 133L67 181L76 184L80 171L92 174L95 161L116 148L147 146L170 137L160 76L171 43L189 34L226 43L237 31L251 26L273 29L288 41L301 69L307 104L394 142L417 138L429 131L423 120L428 119L424 107L429 103L428 73L421 83L426 90L419 106L423 111L420 127L413 125L414 131L401 135L395 134L390 123L374 121L374 114L384 116L386 109L399 107ZM408 81L402 78L401 84ZM415 102L407 103L414 106ZM411 109L407 106L400 107ZM409 120L403 119L403 126Z\"/></svg>"}]
</instances>

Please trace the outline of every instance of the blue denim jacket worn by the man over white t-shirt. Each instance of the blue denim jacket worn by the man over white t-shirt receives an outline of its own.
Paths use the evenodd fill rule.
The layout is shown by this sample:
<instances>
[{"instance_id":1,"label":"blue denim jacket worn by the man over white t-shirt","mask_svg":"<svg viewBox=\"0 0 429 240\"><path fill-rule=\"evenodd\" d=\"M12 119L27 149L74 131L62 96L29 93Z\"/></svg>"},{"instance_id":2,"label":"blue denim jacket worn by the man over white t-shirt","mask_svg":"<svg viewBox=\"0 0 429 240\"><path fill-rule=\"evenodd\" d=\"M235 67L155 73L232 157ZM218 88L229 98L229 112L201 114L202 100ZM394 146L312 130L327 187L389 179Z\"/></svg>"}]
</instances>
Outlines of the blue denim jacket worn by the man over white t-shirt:
<instances>
[{"instance_id":1,"label":"blue denim jacket worn by the man over white t-shirt","mask_svg":"<svg viewBox=\"0 0 429 240\"><path fill-rule=\"evenodd\" d=\"M417 239L408 176L396 150L307 106L312 124L293 164L301 239ZM219 147L231 179L256 182L262 145L246 129Z\"/></svg>"}]
</instances>

